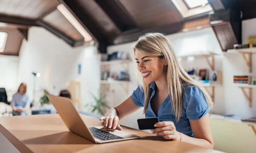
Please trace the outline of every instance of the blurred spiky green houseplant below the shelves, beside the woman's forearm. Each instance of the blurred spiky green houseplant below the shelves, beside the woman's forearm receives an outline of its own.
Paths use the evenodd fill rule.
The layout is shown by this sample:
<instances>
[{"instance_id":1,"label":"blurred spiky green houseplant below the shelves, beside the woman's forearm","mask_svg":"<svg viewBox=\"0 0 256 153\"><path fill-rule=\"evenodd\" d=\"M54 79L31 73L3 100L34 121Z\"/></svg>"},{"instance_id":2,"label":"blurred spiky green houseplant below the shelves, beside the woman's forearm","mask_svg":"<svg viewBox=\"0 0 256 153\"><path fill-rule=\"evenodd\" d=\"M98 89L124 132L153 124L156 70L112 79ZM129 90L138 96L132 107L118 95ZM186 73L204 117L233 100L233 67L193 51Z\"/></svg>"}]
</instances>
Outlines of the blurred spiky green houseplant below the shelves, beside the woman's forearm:
<instances>
[{"instance_id":1,"label":"blurred spiky green houseplant below the shelves, beside the woman's forearm","mask_svg":"<svg viewBox=\"0 0 256 153\"><path fill-rule=\"evenodd\" d=\"M92 97L93 97L93 102L91 102L90 107L93 108L92 113L97 112L100 113L101 115L104 115L104 111L106 108L110 109L110 106L107 104L107 102L105 102L105 98L106 95L105 94L100 94L99 98L97 98L96 96L94 96L91 93ZM86 104L85 107L88 107L89 104Z\"/></svg>"}]
</instances>

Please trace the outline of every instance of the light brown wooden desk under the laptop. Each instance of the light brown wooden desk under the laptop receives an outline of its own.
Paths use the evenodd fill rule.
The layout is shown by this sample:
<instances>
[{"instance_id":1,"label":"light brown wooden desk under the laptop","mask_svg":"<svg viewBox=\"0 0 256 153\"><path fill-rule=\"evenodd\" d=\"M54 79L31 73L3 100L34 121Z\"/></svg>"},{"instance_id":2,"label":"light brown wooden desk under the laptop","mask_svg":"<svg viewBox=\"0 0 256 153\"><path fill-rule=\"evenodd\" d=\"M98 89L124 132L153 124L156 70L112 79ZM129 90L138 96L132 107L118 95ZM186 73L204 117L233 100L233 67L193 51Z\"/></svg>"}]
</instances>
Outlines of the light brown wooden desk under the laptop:
<instances>
[{"instance_id":1,"label":"light brown wooden desk under the laptop","mask_svg":"<svg viewBox=\"0 0 256 153\"><path fill-rule=\"evenodd\" d=\"M99 119L81 115L87 126L102 126ZM166 141L152 133L122 128L142 139L94 144L72 132L58 114L0 117L0 132L21 153L217 153L218 151L179 141Z\"/></svg>"}]
</instances>

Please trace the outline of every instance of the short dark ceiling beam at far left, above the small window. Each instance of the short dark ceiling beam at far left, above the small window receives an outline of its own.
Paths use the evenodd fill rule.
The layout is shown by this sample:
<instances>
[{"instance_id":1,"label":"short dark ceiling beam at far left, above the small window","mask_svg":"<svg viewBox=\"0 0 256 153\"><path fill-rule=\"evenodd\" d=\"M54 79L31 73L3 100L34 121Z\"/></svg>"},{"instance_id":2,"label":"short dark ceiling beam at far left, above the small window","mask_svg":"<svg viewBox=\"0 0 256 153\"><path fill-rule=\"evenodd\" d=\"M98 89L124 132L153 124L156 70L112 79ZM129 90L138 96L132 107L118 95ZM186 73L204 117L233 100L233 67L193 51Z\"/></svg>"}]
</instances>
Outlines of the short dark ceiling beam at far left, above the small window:
<instances>
[{"instance_id":1,"label":"short dark ceiling beam at far left, above the small window","mask_svg":"<svg viewBox=\"0 0 256 153\"><path fill-rule=\"evenodd\" d=\"M38 26L38 24L36 23L36 20L7 16L7 15L0 15L0 22L23 25L23 26Z\"/></svg>"}]
</instances>

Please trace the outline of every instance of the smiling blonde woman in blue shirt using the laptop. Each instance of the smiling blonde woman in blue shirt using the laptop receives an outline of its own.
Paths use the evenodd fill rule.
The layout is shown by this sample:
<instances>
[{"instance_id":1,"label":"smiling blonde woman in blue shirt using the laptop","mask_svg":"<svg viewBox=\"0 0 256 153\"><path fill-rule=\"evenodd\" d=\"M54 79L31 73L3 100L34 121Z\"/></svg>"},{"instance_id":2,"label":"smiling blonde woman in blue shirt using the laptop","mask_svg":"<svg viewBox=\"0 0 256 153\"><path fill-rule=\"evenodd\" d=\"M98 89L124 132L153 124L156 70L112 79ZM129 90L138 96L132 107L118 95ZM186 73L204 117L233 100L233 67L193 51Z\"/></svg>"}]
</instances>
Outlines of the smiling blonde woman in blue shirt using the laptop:
<instances>
[{"instance_id":1,"label":"smiling blonde woman in blue shirt using the laptop","mask_svg":"<svg viewBox=\"0 0 256 153\"><path fill-rule=\"evenodd\" d=\"M100 120L122 130L119 119L144 107L146 118L159 119L152 130L157 136L213 148L208 114L212 99L180 66L169 40L163 34L145 34L133 50L142 82Z\"/></svg>"}]
</instances>

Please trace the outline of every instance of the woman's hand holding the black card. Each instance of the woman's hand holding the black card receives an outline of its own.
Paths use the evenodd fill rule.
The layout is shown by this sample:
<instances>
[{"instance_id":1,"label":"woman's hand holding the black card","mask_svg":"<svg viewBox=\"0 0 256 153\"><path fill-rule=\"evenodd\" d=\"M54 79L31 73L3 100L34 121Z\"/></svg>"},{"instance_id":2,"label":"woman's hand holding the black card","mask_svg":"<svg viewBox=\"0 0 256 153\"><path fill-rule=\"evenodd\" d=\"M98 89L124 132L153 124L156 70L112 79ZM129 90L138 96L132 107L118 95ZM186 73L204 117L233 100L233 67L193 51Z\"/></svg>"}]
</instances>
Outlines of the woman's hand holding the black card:
<instances>
[{"instance_id":1,"label":"woman's hand holding the black card","mask_svg":"<svg viewBox=\"0 0 256 153\"><path fill-rule=\"evenodd\" d=\"M157 136L163 136L164 139L179 140L180 133L176 131L176 127L172 121L157 122L152 133L156 133Z\"/></svg>"}]
</instances>

